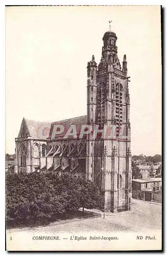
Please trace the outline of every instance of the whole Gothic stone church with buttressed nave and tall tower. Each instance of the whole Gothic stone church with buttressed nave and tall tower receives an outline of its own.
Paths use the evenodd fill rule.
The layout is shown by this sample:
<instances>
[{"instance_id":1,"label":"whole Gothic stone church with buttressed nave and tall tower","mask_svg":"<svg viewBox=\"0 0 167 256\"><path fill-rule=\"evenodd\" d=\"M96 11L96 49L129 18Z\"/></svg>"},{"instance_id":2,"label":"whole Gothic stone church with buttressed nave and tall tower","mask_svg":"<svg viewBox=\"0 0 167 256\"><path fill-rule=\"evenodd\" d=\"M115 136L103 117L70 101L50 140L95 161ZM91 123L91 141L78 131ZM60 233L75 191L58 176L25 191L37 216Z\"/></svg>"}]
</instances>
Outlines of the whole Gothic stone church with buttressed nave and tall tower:
<instances>
[{"instance_id":1,"label":"whole Gothic stone church with buttressed nave and tall tower","mask_svg":"<svg viewBox=\"0 0 167 256\"><path fill-rule=\"evenodd\" d=\"M126 55L121 66L116 40L114 32L106 32L99 65L94 56L87 63L86 116L52 123L23 118L15 139L16 173L85 176L99 186L105 211L111 212L130 210L132 182L129 77ZM64 127L60 134L54 132L58 125ZM66 136L71 125L76 134ZM83 125L91 126L92 132L81 136ZM115 132L103 136L101 131L109 127Z\"/></svg>"}]
</instances>

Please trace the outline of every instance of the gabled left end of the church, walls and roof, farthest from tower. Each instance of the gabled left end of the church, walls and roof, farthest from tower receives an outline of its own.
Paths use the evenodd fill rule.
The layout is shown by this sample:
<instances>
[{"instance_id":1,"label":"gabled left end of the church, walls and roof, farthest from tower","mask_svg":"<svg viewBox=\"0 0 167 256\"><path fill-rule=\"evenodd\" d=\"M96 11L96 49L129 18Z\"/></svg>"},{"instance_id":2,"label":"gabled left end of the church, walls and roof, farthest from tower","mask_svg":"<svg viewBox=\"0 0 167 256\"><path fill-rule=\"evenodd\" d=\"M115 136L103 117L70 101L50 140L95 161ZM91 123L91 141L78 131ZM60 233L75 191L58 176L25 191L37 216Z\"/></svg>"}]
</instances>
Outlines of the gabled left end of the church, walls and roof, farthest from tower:
<instances>
[{"instance_id":1,"label":"gabled left end of the church, walls and roof, farthest from tower","mask_svg":"<svg viewBox=\"0 0 167 256\"><path fill-rule=\"evenodd\" d=\"M40 128L49 134L51 124L23 118L18 137L15 139L15 173L34 172L40 166L40 158L46 156L46 139L40 138Z\"/></svg>"}]
</instances>

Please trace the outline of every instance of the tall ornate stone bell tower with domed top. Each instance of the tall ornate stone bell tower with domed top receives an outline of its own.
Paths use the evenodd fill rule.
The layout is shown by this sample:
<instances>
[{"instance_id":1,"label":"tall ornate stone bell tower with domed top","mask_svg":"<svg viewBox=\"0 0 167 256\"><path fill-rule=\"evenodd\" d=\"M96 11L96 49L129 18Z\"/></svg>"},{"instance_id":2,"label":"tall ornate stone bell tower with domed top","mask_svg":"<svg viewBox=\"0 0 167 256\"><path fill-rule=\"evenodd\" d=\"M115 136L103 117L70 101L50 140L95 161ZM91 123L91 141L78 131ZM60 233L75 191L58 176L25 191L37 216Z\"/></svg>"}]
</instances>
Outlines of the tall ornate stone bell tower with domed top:
<instances>
[{"instance_id":1,"label":"tall ornate stone bell tower with domed top","mask_svg":"<svg viewBox=\"0 0 167 256\"><path fill-rule=\"evenodd\" d=\"M93 102L93 97L87 91L88 104L90 99L94 103L90 104L94 111L92 114L88 113L87 121L99 124L101 130L111 127L115 131L112 136L107 134L104 138L97 137L93 141L91 160L94 163L87 167L87 172L92 167L92 180L102 190L105 211L111 212L130 210L131 204L129 77L126 55L121 67L116 40L117 36L112 31L107 31L103 36L102 57L98 70L96 68L97 75L94 78L93 73L89 81L92 84L96 79L96 89L94 86L93 92L97 95L97 100L94 98ZM92 75L92 71L95 72L92 64L88 67Z\"/></svg>"}]
</instances>

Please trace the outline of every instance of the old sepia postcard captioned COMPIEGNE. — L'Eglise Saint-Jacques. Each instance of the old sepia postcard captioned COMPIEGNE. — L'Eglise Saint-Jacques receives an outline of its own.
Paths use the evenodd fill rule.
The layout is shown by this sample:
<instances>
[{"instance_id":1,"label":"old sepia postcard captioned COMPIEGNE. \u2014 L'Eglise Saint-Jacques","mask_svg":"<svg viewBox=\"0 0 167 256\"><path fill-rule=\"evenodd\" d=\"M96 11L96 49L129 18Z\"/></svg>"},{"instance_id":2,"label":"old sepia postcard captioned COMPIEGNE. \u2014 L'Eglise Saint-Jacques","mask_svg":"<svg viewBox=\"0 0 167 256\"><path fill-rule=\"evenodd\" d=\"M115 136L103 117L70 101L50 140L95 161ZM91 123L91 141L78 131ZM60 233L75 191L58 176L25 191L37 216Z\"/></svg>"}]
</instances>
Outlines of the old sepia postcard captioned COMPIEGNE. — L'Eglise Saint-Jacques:
<instances>
[{"instance_id":1,"label":"old sepia postcard captioned COMPIEGNE. \u2014 L'Eglise Saint-Jacques","mask_svg":"<svg viewBox=\"0 0 167 256\"><path fill-rule=\"evenodd\" d=\"M161 7L6 6L6 249L161 250Z\"/></svg>"}]
</instances>

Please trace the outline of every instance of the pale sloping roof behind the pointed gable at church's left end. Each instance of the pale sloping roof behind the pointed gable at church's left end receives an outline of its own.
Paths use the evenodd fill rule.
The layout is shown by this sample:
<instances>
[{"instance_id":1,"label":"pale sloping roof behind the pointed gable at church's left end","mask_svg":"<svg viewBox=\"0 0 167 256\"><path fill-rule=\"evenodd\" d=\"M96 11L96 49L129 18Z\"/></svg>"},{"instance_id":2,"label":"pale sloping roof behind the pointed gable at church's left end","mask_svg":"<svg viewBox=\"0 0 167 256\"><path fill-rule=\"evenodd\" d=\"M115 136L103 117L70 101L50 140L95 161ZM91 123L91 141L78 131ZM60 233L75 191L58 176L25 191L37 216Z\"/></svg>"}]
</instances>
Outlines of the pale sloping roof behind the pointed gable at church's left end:
<instances>
[{"instance_id":1,"label":"pale sloping roof behind the pointed gable at church's left end","mask_svg":"<svg viewBox=\"0 0 167 256\"><path fill-rule=\"evenodd\" d=\"M45 138L49 137L51 123L34 121L29 119L25 119L25 120L28 126L28 130L30 132L30 136L32 136L33 138L43 138L43 139L44 137Z\"/></svg>"}]
</instances>

